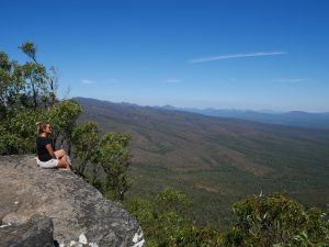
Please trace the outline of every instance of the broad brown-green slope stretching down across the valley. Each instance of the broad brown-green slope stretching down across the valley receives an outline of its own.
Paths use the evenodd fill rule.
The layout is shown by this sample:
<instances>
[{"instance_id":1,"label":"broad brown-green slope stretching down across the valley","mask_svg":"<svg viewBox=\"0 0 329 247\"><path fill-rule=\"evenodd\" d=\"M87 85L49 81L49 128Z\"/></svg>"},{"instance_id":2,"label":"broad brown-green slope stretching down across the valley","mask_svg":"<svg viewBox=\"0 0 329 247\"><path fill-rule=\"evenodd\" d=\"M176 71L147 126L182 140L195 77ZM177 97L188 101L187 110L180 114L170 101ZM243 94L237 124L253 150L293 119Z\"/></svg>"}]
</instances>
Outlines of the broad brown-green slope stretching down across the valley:
<instances>
[{"instance_id":1,"label":"broad brown-green slope stretching down across the valley","mask_svg":"<svg viewBox=\"0 0 329 247\"><path fill-rule=\"evenodd\" d=\"M191 194L197 223L222 227L231 203L251 193L286 190L309 205L329 202L329 131L77 100L80 121L133 136L129 197L180 189Z\"/></svg>"}]
</instances>

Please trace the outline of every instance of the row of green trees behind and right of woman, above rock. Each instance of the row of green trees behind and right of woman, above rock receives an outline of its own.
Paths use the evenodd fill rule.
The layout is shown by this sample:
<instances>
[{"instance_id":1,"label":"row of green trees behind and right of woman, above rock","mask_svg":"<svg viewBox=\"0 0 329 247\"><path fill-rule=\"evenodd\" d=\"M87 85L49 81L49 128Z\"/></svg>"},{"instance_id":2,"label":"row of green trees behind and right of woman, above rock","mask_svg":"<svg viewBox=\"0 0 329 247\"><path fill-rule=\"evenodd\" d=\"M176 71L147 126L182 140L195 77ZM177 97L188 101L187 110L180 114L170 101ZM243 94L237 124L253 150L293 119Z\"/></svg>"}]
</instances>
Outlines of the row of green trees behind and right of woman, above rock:
<instances>
[{"instance_id":1,"label":"row of green trees behind and right of woman, above rock","mask_svg":"<svg viewBox=\"0 0 329 247\"><path fill-rule=\"evenodd\" d=\"M27 41L19 48L30 60L19 64L0 52L0 154L35 151L35 123L49 122L55 149L66 144L70 154L71 144L75 144L75 155L82 160L78 173L84 176L86 166L91 164L91 182L95 184L102 168L106 177L105 189L114 199L124 200L124 193L132 186L127 173L131 137L116 133L101 136L98 126L91 122L76 126L82 108L77 101L57 98L55 68L47 69L38 63L34 43Z\"/></svg>"}]
</instances>

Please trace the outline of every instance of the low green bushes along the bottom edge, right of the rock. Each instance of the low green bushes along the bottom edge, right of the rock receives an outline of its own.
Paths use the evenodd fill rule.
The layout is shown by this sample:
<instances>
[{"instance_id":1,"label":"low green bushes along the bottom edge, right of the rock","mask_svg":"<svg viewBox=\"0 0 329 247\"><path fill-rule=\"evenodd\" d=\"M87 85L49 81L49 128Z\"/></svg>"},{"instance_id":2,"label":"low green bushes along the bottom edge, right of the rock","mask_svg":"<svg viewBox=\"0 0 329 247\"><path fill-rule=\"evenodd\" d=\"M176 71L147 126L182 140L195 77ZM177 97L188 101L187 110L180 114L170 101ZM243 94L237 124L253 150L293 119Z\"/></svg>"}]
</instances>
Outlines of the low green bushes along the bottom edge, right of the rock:
<instances>
[{"instance_id":1,"label":"low green bushes along the bottom edge, right of the rock","mask_svg":"<svg viewBox=\"0 0 329 247\"><path fill-rule=\"evenodd\" d=\"M280 193L235 203L227 233L193 225L181 211L189 205L189 197L172 189L161 191L156 200L127 200L125 205L139 221L146 246L329 246L328 214L317 207L305 209Z\"/></svg>"}]
</instances>

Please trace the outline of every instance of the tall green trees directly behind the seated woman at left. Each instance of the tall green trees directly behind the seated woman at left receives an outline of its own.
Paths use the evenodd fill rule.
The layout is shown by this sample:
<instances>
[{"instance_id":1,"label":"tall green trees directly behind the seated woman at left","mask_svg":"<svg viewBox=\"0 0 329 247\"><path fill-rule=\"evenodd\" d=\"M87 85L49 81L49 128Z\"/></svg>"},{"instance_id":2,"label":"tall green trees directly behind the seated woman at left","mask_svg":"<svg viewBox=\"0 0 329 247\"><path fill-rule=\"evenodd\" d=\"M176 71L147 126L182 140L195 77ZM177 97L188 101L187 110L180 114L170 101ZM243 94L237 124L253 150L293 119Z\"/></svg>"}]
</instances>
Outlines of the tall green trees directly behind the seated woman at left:
<instances>
[{"instance_id":1,"label":"tall green trees directly behind the seated woman at left","mask_svg":"<svg viewBox=\"0 0 329 247\"><path fill-rule=\"evenodd\" d=\"M31 60L19 64L0 52L0 154L23 154L35 150L35 123L47 121L55 139L69 136L81 106L75 101L59 101L54 69L36 60L32 42L20 46ZM63 143L63 142L61 142Z\"/></svg>"}]
</instances>

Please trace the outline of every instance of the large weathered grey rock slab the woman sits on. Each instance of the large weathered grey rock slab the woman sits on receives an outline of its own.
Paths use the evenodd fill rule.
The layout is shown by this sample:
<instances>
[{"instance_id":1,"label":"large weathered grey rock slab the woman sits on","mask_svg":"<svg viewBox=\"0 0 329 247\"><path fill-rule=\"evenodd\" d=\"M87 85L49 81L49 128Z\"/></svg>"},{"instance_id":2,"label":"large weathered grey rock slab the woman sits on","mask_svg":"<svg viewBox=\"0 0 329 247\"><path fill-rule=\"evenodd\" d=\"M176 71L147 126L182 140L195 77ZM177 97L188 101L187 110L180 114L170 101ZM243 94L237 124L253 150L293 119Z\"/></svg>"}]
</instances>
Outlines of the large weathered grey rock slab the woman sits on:
<instances>
[{"instance_id":1,"label":"large weathered grey rock slab the woman sits on","mask_svg":"<svg viewBox=\"0 0 329 247\"><path fill-rule=\"evenodd\" d=\"M38 168L31 155L0 156L0 235L4 225L26 224L34 214L53 221L54 239L60 246L79 238L90 243L86 246L100 247L144 243L136 220L82 178Z\"/></svg>"}]
</instances>

